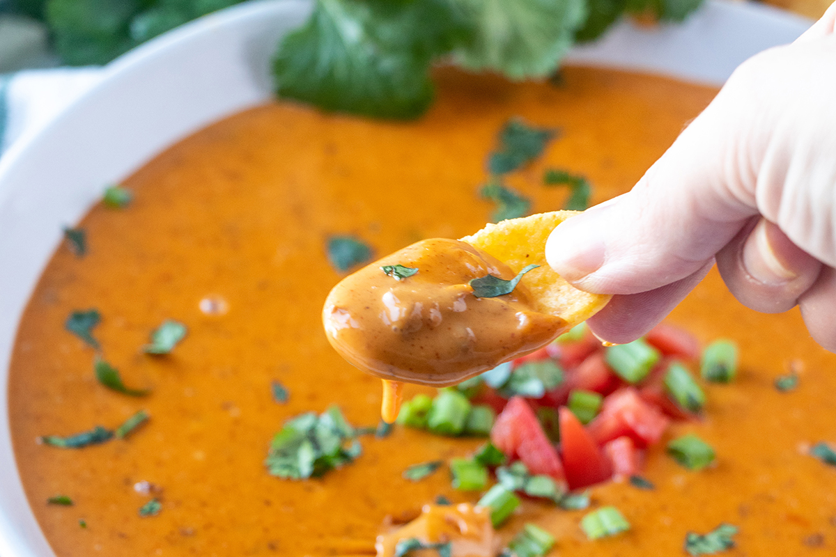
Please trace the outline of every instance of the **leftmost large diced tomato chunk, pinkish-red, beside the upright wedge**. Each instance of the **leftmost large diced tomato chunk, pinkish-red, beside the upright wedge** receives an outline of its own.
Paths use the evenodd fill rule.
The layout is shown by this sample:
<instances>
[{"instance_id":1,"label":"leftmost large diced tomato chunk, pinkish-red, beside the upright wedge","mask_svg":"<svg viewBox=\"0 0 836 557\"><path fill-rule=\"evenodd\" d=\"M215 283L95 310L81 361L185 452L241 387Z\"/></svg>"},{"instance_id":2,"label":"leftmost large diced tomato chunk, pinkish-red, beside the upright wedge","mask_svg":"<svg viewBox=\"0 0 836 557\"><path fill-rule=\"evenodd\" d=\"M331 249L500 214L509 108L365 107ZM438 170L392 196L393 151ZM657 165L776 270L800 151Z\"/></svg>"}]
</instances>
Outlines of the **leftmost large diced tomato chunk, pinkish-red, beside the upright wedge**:
<instances>
[{"instance_id":1,"label":"leftmost large diced tomato chunk, pinkish-red, beside the upright wedge","mask_svg":"<svg viewBox=\"0 0 836 557\"><path fill-rule=\"evenodd\" d=\"M558 451L523 397L512 397L497 416L491 441L508 458L518 457L531 473L543 473L563 481L563 465Z\"/></svg>"}]
</instances>

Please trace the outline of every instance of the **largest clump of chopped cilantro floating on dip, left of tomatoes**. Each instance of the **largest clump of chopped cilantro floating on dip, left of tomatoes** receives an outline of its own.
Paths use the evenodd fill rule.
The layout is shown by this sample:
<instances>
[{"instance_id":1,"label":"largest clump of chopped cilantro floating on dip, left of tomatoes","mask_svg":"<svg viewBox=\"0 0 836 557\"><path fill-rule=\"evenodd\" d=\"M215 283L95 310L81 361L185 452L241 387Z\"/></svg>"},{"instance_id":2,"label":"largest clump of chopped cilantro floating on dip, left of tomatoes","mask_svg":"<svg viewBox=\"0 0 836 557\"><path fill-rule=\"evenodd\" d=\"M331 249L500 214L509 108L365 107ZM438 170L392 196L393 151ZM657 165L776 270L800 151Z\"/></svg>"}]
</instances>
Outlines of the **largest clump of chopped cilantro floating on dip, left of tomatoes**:
<instances>
[{"instance_id":1,"label":"largest clump of chopped cilantro floating on dip, left of tomatoes","mask_svg":"<svg viewBox=\"0 0 836 557\"><path fill-rule=\"evenodd\" d=\"M335 406L319 416L299 414L273 438L264 465L283 479L319 477L359 457L362 448L356 435Z\"/></svg>"}]
</instances>

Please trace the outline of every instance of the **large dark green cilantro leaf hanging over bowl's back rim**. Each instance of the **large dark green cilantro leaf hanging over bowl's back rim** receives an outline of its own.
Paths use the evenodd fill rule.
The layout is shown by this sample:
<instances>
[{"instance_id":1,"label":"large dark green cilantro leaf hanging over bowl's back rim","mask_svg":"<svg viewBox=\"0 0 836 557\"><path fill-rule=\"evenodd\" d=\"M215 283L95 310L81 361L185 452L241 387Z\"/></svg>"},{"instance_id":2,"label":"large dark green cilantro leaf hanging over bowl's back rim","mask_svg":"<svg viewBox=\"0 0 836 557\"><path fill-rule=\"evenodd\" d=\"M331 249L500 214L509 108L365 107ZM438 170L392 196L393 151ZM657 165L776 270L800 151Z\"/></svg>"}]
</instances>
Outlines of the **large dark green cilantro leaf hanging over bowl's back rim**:
<instances>
[{"instance_id":1,"label":"large dark green cilantro leaf hanging over bowl's back rim","mask_svg":"<svg viewBox=\"0 0 836 557\"><path fill-rule=\"evenodd\" d=\"M317 0L279 43L277 93L325 110L415 118L433 98L433 58L468 35L449 0Z\"/></svg>"}]
</instances>

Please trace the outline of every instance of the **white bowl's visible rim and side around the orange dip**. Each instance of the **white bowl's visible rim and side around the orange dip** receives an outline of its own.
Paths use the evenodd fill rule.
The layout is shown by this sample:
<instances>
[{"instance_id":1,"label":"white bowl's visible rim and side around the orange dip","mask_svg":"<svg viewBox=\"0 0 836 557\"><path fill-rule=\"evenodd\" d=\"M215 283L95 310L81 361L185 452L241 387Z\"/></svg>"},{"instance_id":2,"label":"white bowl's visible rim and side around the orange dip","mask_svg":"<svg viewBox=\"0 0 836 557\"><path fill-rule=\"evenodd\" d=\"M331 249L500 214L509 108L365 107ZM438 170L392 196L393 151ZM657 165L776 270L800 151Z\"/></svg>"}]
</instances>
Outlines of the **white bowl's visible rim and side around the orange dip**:
<instances>
[{"instance_id":1,"label":"white bowl's visible rim and side around the orange dip","mask_svg":"<svg viewBox=\"0 0 836 557\"><path fill-rule=\"evenodd\" d=\"M102 82L0 159L0 381L23 307L59 241L118 182L167 145L271 97L269 59L303 22L308 0L240 4L125 54ZM746 58L789 43L810 22L749 3L706 4L685 24L622 23L575 63L637 69L722 84ZM29 509L0 389L0 555L54 555Z\"/></svg>"}]
</instances>

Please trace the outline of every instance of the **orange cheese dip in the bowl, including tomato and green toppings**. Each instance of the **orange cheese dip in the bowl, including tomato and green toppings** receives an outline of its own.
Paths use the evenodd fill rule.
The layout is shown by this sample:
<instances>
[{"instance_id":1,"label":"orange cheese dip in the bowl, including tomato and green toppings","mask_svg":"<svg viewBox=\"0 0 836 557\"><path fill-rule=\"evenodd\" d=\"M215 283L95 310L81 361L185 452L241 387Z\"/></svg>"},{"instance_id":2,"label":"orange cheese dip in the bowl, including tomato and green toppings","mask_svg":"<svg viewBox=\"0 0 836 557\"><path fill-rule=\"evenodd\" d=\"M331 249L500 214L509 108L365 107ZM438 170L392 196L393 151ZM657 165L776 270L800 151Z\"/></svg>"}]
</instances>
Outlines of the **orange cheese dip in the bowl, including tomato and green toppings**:
<instances>
[{"instance_id":1,"label":"orange cheese dip in the bowl, including tomato and green toppings","mask_svg":"<svg viewBox=\"0 0 836 557\"><path fill-rule=\"evenodd\" d=\"M836 359L798 311L748 311L716 272L673 312L679 332L604 348L573 329L463 385L405 385L379 424L380 379L323 332L334 285L589 185L590 203L619 195L716 94L592 68L563 84L437 78L408 124L236 114L76 225L8 382L18 471L56 554L832 553ZM533 156L509 147L520 134ZM521 270L471 246L510 268L462 247L482 271ZM537 271L514 303L540 296Z\"/></svg>"}]
</instances>

